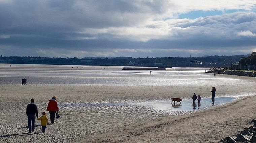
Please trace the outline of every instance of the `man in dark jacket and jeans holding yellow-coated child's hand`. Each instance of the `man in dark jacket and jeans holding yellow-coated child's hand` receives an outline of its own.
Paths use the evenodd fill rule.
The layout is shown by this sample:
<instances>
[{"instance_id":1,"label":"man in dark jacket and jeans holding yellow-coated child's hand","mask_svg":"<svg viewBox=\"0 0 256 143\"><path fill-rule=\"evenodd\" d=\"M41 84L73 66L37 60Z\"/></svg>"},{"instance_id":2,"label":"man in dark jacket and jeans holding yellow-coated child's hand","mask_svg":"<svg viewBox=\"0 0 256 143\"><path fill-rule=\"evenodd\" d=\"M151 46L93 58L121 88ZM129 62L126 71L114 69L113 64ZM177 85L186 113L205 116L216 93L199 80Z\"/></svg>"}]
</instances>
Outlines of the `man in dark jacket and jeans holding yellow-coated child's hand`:
<instances>
[{"instance_id":1,"label":"man in dark jacket and jeans holding yellow-coated child's hand","mask_svg":"<svg viewBox=\"0 0 256 143\"><path fill-rule=\"evenodd\" d=\"M34 104L35 99L30 100L30 104L27 105L27 111L26 114L28 116L28 129L29 132L34 132L35 130L35 120L38 118L38 112L37 112L37 106Z\"/></svg>"}]
</instances>

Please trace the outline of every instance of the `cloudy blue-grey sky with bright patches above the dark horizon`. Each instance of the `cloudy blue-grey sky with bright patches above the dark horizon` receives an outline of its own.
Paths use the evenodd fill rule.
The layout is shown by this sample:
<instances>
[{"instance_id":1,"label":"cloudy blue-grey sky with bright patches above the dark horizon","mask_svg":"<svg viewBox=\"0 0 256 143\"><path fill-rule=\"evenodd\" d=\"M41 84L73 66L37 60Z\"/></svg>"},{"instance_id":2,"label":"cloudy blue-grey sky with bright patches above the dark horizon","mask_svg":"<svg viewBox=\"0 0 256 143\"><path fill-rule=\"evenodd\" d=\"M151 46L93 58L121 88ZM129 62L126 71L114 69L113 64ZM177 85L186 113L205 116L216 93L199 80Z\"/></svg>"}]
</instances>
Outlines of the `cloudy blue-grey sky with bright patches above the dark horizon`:
<instances>
[{"instance_id":1,"label":"cloudy blue-grey sky with bright patches above the dark horizon","mask_svg":"<svg viewBox=\"0 0 256 143\"><path fill-rule=\"evenodd\" d=\"M256 51L256 0L0 0L0 54L200 57Z\"/></svg>"}]
</instances>

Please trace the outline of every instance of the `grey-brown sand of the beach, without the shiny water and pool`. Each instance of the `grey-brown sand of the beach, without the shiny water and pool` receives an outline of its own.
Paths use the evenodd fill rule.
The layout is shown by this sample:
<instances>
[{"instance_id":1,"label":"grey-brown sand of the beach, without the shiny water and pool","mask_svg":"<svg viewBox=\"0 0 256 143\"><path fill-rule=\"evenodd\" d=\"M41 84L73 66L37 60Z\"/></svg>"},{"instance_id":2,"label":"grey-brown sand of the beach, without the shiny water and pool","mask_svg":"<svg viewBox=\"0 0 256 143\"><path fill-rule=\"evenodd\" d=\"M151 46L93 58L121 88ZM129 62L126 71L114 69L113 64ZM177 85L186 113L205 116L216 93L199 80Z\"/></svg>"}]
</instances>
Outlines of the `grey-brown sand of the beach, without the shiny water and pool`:
<instances>
[{"instance_id":1,"label":"grey-brown sand of the beach, without the shiny water and pool","mask_svg":"<svg viewBox=\"0 0 256 143\"><path fill-rule=\"evenodd\" d=\"M168 115L147 107L133 106L63 106L61 119L47 125L41 133L40 121L35 132L27 134L26 106L35 98L39 115L47 102L57 96L59 104L119 102L170 99L170 93L190 98L191 88L162 86L105 86L28 84L0 86L0 142L218 142L247 127L256 118L256 89L253 77L218 75L220 78L238 78L248 84L232 83L217 89L218 95L252 93L238 101L215 106L193 114ZM227 81L228 82L228 81ZM210 97L211 85L196 90ZM49 116L49 113L46 114Z\"/></svg>"}]
</instances>

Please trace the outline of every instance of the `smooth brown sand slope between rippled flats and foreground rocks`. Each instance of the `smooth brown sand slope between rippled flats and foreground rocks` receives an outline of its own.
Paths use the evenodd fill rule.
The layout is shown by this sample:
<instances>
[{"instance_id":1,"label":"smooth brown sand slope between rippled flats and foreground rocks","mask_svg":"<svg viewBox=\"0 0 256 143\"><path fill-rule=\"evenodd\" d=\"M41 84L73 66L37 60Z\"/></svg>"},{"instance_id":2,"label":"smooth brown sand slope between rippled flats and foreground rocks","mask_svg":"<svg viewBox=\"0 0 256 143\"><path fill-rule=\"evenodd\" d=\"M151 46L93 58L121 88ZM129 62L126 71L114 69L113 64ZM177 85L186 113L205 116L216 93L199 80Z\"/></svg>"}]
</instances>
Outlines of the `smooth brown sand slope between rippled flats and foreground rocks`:
<instances>
[{"instance_id":1,"label":"smooth brown sand slope between rippled flats and foreground rocks","mask_svg":"<svg viewBox=\"0 0 256 143\"><path fill-rule=\"evenodd\" d=\"M237 113L237 118L233 117L234 114L229 114L232 112L230 109L234 107L237 109L237 106L241 106L245 102L255 103L256 95L213 109L167 117L134 129L123 130L121 133L119 131L114 134L104 134L101 137L94 137L83 142L219 142L222 138L234 136L240 133L243 128L250 126L247 123L256 115L251 113L253 107L248 109L248 106L244 106L239 109L239 111L244 110L244 115L238 114L239 111L233 111ZM208 117L204 115L208 115ZM246 118L243 118L245 115L247 115ZM224 120L220 122L220 118L224 118ZM229 130L226 130L227 128Z\"/></svg>"}]
</instances>

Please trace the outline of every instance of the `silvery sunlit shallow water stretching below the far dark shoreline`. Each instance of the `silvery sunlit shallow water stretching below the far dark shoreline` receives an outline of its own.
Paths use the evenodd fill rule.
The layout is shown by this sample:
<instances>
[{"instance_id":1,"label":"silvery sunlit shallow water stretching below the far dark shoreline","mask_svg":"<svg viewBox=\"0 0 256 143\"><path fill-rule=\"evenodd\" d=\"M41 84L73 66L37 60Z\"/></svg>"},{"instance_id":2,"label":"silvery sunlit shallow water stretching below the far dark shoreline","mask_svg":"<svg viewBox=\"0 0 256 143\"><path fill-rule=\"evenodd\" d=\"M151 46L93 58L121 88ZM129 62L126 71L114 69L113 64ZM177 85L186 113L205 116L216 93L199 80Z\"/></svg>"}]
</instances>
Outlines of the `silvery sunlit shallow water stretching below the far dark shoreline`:
<instances>
[{"instance_id":1,"label":"silvery sunlit shallow water stretching below the far dark shoreline","mask_svg":"<svg viewBox=\"0 0 256 143\"><path fill-rule=\"evenodd\" d=\"M72 68L73 67L73 68ZM207 68L176 68L169 71L122 70L121 66L72 66L0 64L0 84L93 84L93 85L157 85L189 86L207 84L211 80L237 81L205 74ZM82 68L84 67L84 68Z\"/></svg>"}]
</instances>

